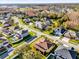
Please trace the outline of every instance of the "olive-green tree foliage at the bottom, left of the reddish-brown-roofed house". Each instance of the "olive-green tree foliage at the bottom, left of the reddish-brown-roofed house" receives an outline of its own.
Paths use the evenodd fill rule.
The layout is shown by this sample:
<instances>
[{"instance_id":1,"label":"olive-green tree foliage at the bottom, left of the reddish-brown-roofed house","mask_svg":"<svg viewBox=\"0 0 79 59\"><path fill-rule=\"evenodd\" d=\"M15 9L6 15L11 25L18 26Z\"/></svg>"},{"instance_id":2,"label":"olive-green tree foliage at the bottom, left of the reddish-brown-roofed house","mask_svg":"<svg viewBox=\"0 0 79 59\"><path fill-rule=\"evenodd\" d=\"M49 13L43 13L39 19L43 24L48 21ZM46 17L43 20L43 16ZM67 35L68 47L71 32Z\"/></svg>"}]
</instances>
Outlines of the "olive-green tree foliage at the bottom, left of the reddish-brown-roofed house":
<instances>
[{"instance_id":1,"label":"olive-green tree foliage at the bottom, left of the reddish-brown-roofed house","mask_svg":"<svg viewBox=\"0 0 79 59\"><path fill-rule=\"evenodd\" d=\"M14 54L21 54L22 59L42 59L38 51L33 51L29 45L22 45L15 49Z\"/></svg>"}]
</instances>

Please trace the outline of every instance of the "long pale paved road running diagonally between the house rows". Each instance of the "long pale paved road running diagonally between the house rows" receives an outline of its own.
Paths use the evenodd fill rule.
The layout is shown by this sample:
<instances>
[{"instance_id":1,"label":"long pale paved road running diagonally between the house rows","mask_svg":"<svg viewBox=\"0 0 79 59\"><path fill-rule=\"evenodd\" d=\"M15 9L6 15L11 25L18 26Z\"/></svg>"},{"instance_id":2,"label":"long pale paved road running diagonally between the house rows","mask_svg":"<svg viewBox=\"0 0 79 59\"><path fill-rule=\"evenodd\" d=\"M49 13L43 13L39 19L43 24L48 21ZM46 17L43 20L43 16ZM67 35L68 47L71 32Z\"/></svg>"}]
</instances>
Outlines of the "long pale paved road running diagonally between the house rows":
<instances>
[{"instance_id":1,"label":"long pale paved road running diagonally between the house rows","mask_svg":"<svg viewBox=\"0 0 79 59\"><path fill-rule=\"evenodd\" d=\"M51 36L51 35L42 33L41 31L36 31L36 30L31 29L31 28L28 27L27 25L24 25L23 23L20 23L20 22L19 22L19 25L20 25L22 28L24 28L24 29L28 29L29 31L33 31L33 32L37 33L38 36L44 35L44 36L46 36L46 37L48 37L48 38L51 38L52 40L56 40L57 42L59 42L59 43L61 43L61 44L66 44L66 45L68 45L69 47L74 47L76 50L79 49L79 45L74 45L74 44L71 44L71 43L67 43L67 42L65 42L65 41L62 41L62 40L60 39L60 37L58 37L58 36Z\"/></svg>"}]
</instances>

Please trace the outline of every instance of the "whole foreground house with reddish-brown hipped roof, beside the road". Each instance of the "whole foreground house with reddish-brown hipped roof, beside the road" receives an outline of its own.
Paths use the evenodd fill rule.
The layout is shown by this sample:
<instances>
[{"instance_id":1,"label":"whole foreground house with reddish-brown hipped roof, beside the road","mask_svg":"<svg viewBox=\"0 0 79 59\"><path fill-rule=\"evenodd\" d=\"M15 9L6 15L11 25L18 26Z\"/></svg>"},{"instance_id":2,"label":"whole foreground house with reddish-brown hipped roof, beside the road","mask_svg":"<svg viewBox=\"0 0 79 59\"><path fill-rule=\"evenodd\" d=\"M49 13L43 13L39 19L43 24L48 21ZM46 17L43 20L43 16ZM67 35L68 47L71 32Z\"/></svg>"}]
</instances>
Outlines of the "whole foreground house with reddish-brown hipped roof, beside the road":
<instances>
[{"instance_id":1,"label":"whole foreground house with reddish-brown hipped roof, beside the road","mask_svg":"<svg viewBox=\"0 0 79 59\"><path fill-rule=\"evenodd\" d=\"M55 47L55 44L47 39L41 39L35 43L34 47L42 54L45 54L49 53Z\"/></svg>"}]
</instances>

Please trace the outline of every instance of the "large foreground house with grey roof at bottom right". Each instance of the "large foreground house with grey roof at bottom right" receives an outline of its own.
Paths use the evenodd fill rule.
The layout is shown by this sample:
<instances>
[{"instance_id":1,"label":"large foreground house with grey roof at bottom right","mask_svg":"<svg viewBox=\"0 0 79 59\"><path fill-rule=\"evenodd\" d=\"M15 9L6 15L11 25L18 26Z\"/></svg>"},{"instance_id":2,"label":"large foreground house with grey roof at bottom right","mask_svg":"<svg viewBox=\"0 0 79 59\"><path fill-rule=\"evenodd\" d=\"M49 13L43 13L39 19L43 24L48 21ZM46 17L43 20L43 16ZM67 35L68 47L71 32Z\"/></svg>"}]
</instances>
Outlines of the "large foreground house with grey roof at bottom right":
<instances>
[{"instance_id":1,"label":"large foreground house with grey roof at bottom right","mask_svg":"<svg viewBox=\"0 0 79 59\"><path fill-rule=\"evenodd\" d=\"M63 46L59 46L54 54L51 53L48 55L47 59L77 59L77 53L71 48L65 48Z\"/></svg>"}]
</instances>

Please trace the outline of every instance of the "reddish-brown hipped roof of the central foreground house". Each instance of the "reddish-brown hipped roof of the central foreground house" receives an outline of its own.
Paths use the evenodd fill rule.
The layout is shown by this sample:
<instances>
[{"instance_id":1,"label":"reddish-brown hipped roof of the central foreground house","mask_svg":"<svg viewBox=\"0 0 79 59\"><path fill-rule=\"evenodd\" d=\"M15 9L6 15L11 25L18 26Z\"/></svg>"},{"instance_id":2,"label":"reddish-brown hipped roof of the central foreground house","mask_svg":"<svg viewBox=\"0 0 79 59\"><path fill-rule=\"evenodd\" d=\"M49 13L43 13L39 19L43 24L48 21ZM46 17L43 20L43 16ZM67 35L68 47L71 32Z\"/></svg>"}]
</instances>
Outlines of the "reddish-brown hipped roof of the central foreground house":
<instances>
[{"instance_id":1,"label":"reddish-brown hipped roof of the central foreground house","mask_svg":"<svg viewBox=\"0 0 79 59\"><path fill-rule=\"evenodd\" d=\"M52 46L55 46L55 44L46 39L41 39L39 42L36 42L34 47L41 52L46 52L46 50L48 50Z\"/></svg>"}]
</instances>

